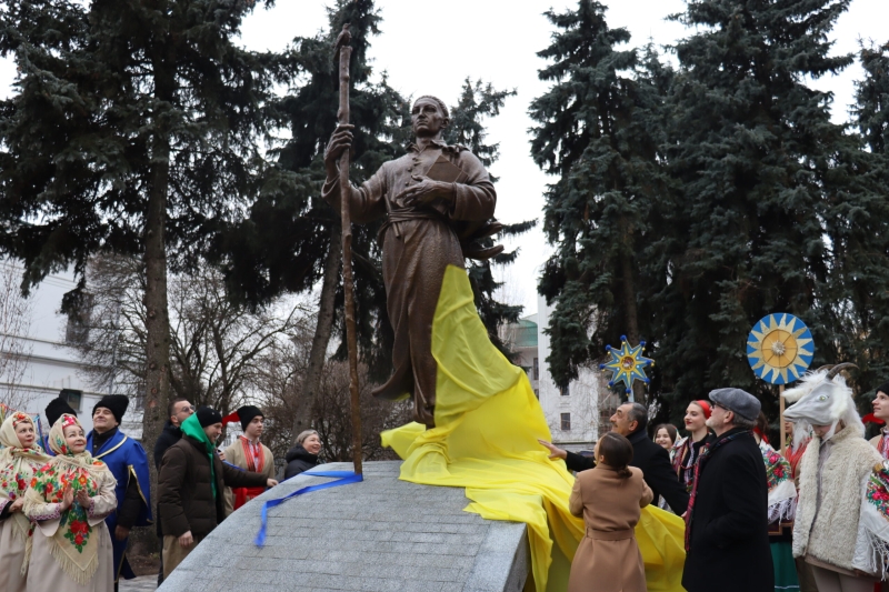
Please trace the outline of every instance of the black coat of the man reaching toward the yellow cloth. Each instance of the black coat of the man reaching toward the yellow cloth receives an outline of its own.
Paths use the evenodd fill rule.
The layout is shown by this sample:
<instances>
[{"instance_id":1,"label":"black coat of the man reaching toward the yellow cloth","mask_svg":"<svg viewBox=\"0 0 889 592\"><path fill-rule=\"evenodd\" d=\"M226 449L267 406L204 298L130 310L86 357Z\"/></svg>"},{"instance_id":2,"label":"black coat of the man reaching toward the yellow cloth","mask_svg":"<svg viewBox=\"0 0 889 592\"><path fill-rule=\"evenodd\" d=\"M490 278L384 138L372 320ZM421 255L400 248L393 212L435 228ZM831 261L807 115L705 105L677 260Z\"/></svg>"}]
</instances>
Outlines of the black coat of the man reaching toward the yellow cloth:
<instances>
[{"instance_id":1,"label":"black coat of the man reaching toward the yellow cloth","mask_svg":"<svg viewBox=\"0 0 889 592\"><path fill-rule=\"evenodd\" d=\"M688 508L688 493L679 484L679 478L670 463L670 453L663 446L648 438L645 430L637 430L627 437L632 444L630 466L638 466L645 474L646 483L655 493L655 499L662 495L667 503L679 515ZM760 464L762 460L760 459ZM568 453L565 463L569 471L586 471L596 466L596 459Z\"/></svg>"}]
</instances>

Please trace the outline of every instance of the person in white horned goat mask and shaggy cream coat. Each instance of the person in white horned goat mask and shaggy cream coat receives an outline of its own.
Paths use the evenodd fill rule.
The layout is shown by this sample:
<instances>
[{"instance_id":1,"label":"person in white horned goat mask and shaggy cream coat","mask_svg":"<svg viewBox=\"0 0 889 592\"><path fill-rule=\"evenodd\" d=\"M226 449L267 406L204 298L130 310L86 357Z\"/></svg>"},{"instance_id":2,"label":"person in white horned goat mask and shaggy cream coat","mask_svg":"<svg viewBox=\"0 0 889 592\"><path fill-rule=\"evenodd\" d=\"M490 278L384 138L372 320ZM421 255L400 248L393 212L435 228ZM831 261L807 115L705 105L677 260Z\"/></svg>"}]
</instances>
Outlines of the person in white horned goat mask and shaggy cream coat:
<instances>
[{"instance_id":1,"label":"person in white horned goat mask and shaggy cream coat","mask_svg":"<svg viewBox=\"0 0 889 592\"><path fill-rule=\"evenodd\" d=\"M878 578L855 565L862 491L882 456L865 439L852 390L838 372L819 370L785 391L785 417L811 425L799 464L793 555L812 566L819 592L872 592Z\"/></svg>"}]
</instances>

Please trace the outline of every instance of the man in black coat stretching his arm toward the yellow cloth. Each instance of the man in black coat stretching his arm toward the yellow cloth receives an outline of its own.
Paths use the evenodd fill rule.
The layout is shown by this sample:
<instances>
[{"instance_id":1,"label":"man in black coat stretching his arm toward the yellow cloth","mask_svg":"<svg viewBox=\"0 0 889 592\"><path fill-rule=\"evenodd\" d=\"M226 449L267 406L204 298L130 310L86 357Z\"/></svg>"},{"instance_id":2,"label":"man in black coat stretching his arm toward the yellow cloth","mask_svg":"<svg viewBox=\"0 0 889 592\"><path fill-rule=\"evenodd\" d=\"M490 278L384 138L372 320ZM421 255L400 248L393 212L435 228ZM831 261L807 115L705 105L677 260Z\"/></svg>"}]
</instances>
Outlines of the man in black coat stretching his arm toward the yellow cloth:
<instances>
[{"instance_id":1,"label":"man in black coat stretching his arm toward the yellow cloth","mask_svg":"<svg viewBox=\"0 0 889 592\"><path fill-rule=\"evenodd\" d=\"M681 515L688 506L688 493L676 479L669 453L648 437L647 425L648 410L640 403L623 403L611 415L611 431L627 438L632 444L631 464L642 470L655 498L662 495L673 512ZM549 450L550 459L565 460L569 471L586 471L596 466L595 458L568 452L546 440L539 442Z\"/></svg>"}]
</instances>

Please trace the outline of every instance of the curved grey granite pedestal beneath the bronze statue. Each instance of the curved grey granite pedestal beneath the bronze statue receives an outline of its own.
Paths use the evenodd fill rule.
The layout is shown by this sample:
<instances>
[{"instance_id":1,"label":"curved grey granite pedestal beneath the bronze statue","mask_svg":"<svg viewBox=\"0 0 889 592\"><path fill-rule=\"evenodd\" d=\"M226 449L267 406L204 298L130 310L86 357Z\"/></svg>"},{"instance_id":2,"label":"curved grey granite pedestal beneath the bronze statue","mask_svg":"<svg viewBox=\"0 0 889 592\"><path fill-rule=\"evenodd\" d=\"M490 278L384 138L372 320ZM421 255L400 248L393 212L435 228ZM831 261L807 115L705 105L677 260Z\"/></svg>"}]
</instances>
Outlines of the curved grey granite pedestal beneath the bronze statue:
<instances>
[{"instance_id":1,"label":"curved grey granite pedestal beneath the bronze statue","mask_svg":"<svg viewBox=\"0 0 889 592\"><path fill-rule=\"evenodd\" d=\"M462 488L398 480L400 462L364 463L364 481L262 502L330 481L298 475L251 501L207 536L161 592L519 592L530 570L526 525L463 512ZM317 470L349 471L351 463Z\"/></svg>"}]
</instances>

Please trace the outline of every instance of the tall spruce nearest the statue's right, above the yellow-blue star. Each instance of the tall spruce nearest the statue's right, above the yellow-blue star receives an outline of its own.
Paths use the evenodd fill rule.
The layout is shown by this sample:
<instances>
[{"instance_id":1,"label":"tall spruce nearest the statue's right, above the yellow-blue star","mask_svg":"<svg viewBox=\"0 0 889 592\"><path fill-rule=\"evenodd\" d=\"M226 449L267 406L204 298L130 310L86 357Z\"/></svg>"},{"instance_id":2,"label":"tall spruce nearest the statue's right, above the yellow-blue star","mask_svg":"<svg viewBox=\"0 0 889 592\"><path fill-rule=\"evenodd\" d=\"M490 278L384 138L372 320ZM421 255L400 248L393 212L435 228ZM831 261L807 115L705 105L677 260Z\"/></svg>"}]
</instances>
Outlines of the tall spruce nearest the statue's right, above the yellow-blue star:
<instances>
[{"instance_id":1,"label":"tall spruce nearest the statue's right, above the yellow-blue star","mask_svg":"<svg viewBox=\"0 0 889 592\"><path fill-rule=\"evenodd\" d=\"M546 13L557 32L538 53L551 62L539 77L552 86L530 108L532 155L553 177L543 229L556 252L539 290L556 301L547 361L560 385L621 334L632 344L652 337L646 294L657 274L647 249L667 187L660 144L670 76L651 47L641 59L617 49L630 33L609 28L605 11L581 0ZM637 400L643 392L638 384Z\"/></svg>"}]
</instances>

